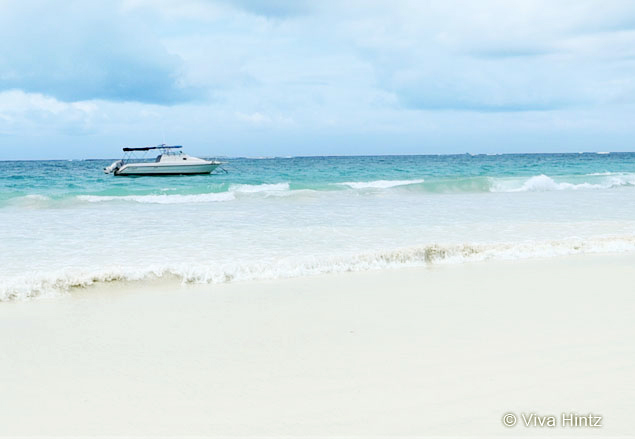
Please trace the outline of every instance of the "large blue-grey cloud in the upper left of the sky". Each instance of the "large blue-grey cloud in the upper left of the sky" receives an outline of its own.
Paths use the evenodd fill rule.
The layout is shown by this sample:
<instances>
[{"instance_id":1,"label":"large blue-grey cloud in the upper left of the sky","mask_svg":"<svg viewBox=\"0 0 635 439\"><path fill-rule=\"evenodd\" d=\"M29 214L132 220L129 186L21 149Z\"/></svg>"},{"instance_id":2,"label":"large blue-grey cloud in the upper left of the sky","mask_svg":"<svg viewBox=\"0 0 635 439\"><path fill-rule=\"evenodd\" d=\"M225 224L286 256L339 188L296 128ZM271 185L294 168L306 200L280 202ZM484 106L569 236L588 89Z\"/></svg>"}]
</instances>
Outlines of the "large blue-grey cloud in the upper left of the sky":
<instances>
[{"instance_id":1,"label":"large blue-grey cloud in the upper left of the sky","mask_svg":"<svg viewBox=\"0 0 635 439\"><path fill-rule=\"evenodd\" d=\"M180 58L131 13L79 1L25 1L2 12L0 89L63 101L175 104L195 97L181 81Z\"/></svg>"}]
</instances>

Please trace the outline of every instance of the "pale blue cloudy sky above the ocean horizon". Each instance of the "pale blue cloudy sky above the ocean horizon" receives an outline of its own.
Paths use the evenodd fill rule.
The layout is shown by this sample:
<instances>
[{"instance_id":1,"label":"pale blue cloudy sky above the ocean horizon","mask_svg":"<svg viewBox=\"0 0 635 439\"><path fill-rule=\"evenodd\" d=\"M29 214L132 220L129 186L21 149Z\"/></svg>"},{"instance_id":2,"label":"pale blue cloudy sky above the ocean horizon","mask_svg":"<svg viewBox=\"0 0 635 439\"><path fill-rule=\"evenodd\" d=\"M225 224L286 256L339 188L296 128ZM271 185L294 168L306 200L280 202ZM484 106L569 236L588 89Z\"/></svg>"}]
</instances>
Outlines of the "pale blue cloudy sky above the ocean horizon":
<instances>
[{"instance_id":1,"label":"pale blue cloudy sky above the ocean horizon","mask_svg":"<svg viewBox=\"0 0 635 439\"><path fill-rule=\"evenodd\" d=\"M0 160L635 150L635 2L0 0Z\"/></svg>"}]
</instances>

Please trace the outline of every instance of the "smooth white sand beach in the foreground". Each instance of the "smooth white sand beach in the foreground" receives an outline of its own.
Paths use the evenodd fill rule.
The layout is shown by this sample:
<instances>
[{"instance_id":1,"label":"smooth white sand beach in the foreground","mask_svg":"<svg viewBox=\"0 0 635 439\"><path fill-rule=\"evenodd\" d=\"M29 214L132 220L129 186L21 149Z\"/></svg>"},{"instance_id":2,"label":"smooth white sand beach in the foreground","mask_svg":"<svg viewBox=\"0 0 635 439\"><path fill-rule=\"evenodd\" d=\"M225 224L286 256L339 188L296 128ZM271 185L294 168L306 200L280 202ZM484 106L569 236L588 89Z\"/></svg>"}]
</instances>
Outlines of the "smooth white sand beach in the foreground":
<instances>
[{"instance_id":1,"label":"smooth white sand beach in the foreground","mask_svg":"<svg viewBox=\"0 0 635 439\"><path fill-rule=\"evenodd\" d=\"M2 436L630 436L635 257L0 303ZM563 412L603 427L506 428Z\"/></svg>"}]
</instances>

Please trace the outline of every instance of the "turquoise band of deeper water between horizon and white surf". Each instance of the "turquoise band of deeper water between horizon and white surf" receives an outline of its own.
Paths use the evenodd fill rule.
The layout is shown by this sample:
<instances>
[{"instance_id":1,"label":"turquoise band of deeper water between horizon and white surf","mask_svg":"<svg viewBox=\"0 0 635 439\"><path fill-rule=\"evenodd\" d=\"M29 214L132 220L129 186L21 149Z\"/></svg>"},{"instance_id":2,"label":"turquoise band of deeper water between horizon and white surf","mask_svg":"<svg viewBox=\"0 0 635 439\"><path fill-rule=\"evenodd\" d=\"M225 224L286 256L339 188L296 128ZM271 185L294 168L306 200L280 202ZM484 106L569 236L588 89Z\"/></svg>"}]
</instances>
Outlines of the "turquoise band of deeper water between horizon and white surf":
<instances>
[{"instance_id":1,"label":"turquoise band of deeper water between horizon and white surf","mask_svg":"<svg viewBox=\"0 0 635 439\"><path fill-rule=\"evenodd\" d=\"M343 184L347 182L418 179L424 181L414 181L411 190L490 192L520 189L522 185L514 183L538 175L556 185L631 185L635 173L635 153L236 158L225 159L228 174L132 181L100 172L112 161L0 162L0 202L36 194L54 200L77 195L209 194L228 192L237 184L283 183L290 190L333 191L350 188ZM598 175L604 173L615 175Z\"/></svg>"}]
</instances>

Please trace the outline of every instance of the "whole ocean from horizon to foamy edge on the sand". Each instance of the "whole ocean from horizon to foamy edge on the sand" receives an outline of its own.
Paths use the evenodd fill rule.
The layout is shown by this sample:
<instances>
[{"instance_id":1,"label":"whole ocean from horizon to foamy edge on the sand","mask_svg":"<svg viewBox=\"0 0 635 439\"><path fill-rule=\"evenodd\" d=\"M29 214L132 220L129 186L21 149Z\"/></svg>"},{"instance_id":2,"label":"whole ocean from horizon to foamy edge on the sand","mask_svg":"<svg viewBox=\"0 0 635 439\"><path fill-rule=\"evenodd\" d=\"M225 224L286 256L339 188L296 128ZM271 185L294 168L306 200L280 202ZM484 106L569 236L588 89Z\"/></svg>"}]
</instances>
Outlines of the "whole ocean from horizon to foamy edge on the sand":
<instances>
[{"instance_id":1,"label":"whole ocean from horizon to foamy edge on the sand","mask_svg":"<svg viewBox=\"0 0 635 439\"><path fill-rule=\"evenodd\" d=\"M0 301L100 282L223 283L635 252L635 153L0 162Z\"/></svg>"}]
</instances>

